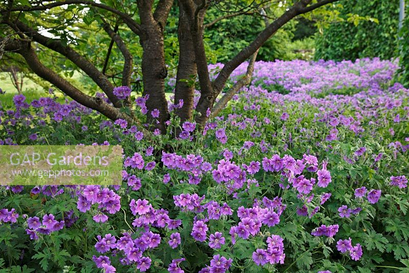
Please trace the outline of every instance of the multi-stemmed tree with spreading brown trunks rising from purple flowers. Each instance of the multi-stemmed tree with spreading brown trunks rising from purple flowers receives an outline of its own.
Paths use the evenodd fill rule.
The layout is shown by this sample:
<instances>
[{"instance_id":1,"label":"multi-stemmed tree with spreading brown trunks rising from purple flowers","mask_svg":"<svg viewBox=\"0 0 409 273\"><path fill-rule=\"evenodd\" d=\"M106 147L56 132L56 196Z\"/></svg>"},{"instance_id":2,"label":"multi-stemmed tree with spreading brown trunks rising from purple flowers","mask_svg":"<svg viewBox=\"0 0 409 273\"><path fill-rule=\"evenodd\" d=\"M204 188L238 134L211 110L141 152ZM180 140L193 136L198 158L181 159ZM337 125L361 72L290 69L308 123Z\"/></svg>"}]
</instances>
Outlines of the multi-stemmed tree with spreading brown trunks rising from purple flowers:
<instances>
[{"instance_id":1,"label":"multi-stemmed tree with spreading brown trunks rising from purple flowers","mask_svg":"<svg viewBox=\"0 0 409 273\"><path fill-rule=\"evenodd\" d=\"M179 0L176 3L173 0L138 0L136 3L10 0L1 5L0 22L4 31L0 55L21 55L39 77L112 120L121 118L130 123L140 123L133 113L130 98L120 100L113 94L113 88L118 81L124 86L142 82L142 95L149 96L146 101L147 122L153 125L152 128L165 132L165 123L169 119L165 96L165 78L168 76L166 57L178 54L175 102L181 99L184 104L177 110L177 115L182 121L194 118L198 126L203 126L231 73L241 63L251 56L254 59L262 45L298 15L315 10L319 11L319 15L334 13L335 6L327 5L334 2L336 0L237 1L232 10L231 5L225 4L230 3L228 1L209 0ZM322 8L325 5L327 7ZM222 18L212 18L208 22L206 15L214 9L222 9L220 7L228 8L224 10ZM165 44L166 28L169 23L172 24L168 16L173 10L178 14L178 53L174 52L175 43ZM206 50L209 24L239 15L250 16L249 13L262 16L265 28L243 43L243 48L226 60L212 81ZM100 36L106 39L105 45L88 43ZM114 44L121 56L112 56ZM105 54L101 54L99 48L105 49L106 46ZM121 61L117 62L119 59ZM135 59L138 60L136 65ZM53 60L59 62L54 63ZM250 65L253 63L249 62ZM105 93L108 102L87 94L60 75L70 67L76 67L92 79ZM248 72L251 71L252 67L249 67ZM194 85L187 79L195 78L195 75L198 77L200 99L195 109L197 114L193 117ZM251 73L247 73L245 77L250 76ZM247 82L238 81L232 90L240 89ZM221 106L219 104L216 109ZM152 116L154 109L160 112L158 117Z\"/></svg>"}]
</instances>

